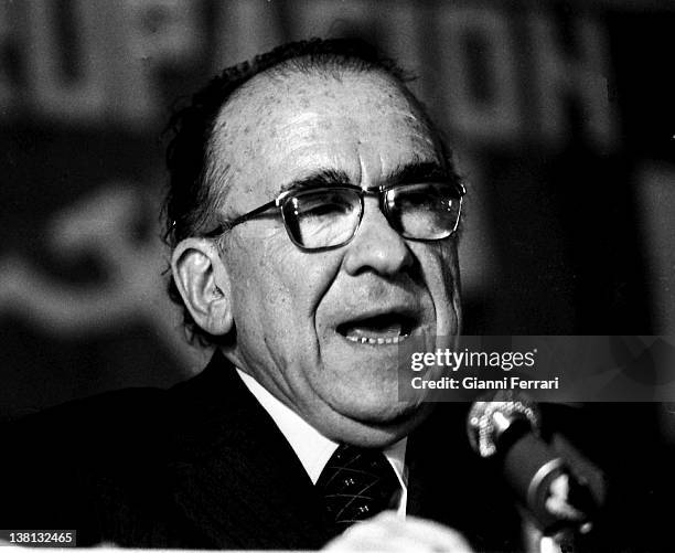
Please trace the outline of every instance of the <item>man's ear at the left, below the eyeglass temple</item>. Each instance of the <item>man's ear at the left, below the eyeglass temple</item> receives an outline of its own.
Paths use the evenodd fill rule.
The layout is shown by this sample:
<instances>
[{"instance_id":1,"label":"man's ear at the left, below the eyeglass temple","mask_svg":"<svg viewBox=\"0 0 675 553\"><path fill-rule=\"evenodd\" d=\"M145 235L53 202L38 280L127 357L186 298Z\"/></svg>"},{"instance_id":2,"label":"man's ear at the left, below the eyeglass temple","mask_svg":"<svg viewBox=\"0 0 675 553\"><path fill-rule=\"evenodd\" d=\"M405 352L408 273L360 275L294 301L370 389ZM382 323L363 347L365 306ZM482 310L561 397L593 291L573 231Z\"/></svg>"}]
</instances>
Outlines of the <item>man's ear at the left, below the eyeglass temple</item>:
<instances>
[{"instance_id":1,"label":"man's ear at the left, below the eyeglass temple","mask_svg":"<svg viewBox=\"0 0 675 553\"><path fill-rule=\"evenodd\" d=\"M185 238L171 257L173 279L194 321L213 336L232 330L229 275L213 240Z\"/></svg>"}]
</instances>

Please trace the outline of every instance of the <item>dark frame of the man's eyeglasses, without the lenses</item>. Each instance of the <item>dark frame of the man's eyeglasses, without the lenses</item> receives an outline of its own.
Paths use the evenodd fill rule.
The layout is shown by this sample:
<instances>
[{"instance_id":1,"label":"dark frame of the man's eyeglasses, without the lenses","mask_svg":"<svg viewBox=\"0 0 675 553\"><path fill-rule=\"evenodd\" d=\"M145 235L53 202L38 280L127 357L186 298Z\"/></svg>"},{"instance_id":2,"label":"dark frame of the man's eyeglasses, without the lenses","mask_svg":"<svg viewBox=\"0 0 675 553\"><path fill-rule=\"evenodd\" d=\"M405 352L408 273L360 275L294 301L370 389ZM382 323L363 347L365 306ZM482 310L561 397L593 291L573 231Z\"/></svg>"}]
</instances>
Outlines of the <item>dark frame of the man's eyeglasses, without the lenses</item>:
<instances>
[{"instance_id":1,"label":"dark frame of the man's eyeglasses, without the lenses","mask_svg":"<svg viewBox=\"0 0 675 553\"><path fill-rule=\"evenodd\" d=\"M452 227L452 230L450 230L446 236L440 236L438 238L417 238L415 236L406 236L400 230L398 230L395 225L392 224L393 217L390 219L389 206L388 206L388 203L386 201L387 193L390 192L392 190L404 189L406 187L417 187L419 184L441 184L441 185L454 187L456 188L458 200L459 200L459 206L458 206L458 212L457 212L457 221L454 222L454 226ZM296 194L310 193L310 192L311 193L315 193L315 192L335 191L335 190L352 190L352 191L356 192L357 195L358 195L361 212L358 214L358 222L354 226L354 231L352 232L352 235L347 240L345 240L345 241L343 241L343 242L341 242L339 244L334 244L332 246L307 247L307 246L304 246L302 244L299 244L298 241L291 234L290 228L289 228L289 224L286 221L286 212L285 212L285 209L283 209L285 202L287 200L289 200L290 198L292 198L293 195L296 195ZM318 187L318 188L303 189L303 190L293 190L293 189L291 189L291 190L285 190L283 192L279 193L279 195L277 195L277 198L275 198L270 202L267 202L267 203L260 205L259 208L256 208L256 209L249 211L248 213L244 213L243 215L239 215L238 217L236 217L235 220L233 220L231 222L223 223L223 224L216 226L213 231L204 234L204 236L207 237L207 238L215 238L217 236L223 236L223 235L227 234L229 231L232 231L235 226L240 225L242 223L246 223L247 221L257 219L258 215L261 215L262 213L265 213L266 211L268 211L268 210L270 210L272 208L278 208L279 212L281 214L281 220L283 221L283 226L286 228L286 233L288 234L288 237L300 249L302 249L304 252L325 252L325 251L329 251L329 249L335 249L335 248L339 248L339 247L347 245L350 242L352 242L352 240L354 240L354 236L356 236L356 233L358 232L358 228L361 227L361 222L363 220L363 213L365 211L365 205L364 205L364 200L363 199L366 195L376 195L376 196L378 196L379 211L383 213L383 215L385 216L385 219L387 220L389 225L400 236L403 236L404 238L414 240L414 241L420 241L420 242L437 242L439 240L449 238L450 236L452 236L457 232L457 228L459 226L459 222L461 220L461 214L462 214L462 199L463 199L463 196L465 194L467 194L467 189L459 181L454 181L454 182L451 182L451 183L444 183L444 182L413 182L413 183L406 183L406 184L389 184L389 185L382 185L382 187L377 187L376 189L368 189L368 190L364 190L361 187L357 187L355 184L340 184L339 187Z\"/></svg>"}]
</instances>

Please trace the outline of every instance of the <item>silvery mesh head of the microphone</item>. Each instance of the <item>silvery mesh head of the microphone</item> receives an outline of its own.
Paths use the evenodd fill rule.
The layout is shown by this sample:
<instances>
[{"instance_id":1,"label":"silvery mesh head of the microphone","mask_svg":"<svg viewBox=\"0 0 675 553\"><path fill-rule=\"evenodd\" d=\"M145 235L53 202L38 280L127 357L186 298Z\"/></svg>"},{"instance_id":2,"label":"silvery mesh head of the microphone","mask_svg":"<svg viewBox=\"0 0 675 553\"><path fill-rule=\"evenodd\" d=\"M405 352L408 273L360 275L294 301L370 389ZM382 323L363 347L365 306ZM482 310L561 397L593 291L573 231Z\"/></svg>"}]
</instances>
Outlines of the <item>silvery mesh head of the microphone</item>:
<instances>
[{"instance_id":1,"label":"silvery mesh head of the microphone","mask_svg":"<svg viewBox=\"0 0 675 553\"><path fill-rule=\"evenodd\" d=\"M481 457L492 457L499 450L500 438L514 424L526 424L538 436L540 419L536 403L525 394L500 390L471 405L467 416L469 443Z\"/></svg>"}]
</instances>

